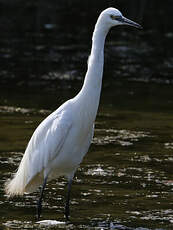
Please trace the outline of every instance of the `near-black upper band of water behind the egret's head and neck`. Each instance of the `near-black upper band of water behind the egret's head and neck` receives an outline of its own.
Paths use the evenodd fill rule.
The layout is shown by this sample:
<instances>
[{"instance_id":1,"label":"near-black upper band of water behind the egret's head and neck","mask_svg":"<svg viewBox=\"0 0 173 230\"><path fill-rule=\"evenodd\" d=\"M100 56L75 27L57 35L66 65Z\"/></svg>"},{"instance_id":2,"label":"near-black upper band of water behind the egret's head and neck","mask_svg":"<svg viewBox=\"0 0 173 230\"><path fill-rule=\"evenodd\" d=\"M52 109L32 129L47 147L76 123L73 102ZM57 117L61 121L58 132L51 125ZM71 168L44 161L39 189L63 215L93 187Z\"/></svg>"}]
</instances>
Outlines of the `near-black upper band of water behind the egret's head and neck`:
<instances>
[{"instance_id":1,"label":"near-black upper band of water behind the egret's head and neck","mask_svg":"<svg viewBox=\"0 0 173 230\"><path fill-rule=\"evenodd\" d=\"M94 25L110 5L143 30L110 31L106 75L173 83L172 0L0 0L0 84L42 87L83 79Z\"/></svg>"}]
</instances>

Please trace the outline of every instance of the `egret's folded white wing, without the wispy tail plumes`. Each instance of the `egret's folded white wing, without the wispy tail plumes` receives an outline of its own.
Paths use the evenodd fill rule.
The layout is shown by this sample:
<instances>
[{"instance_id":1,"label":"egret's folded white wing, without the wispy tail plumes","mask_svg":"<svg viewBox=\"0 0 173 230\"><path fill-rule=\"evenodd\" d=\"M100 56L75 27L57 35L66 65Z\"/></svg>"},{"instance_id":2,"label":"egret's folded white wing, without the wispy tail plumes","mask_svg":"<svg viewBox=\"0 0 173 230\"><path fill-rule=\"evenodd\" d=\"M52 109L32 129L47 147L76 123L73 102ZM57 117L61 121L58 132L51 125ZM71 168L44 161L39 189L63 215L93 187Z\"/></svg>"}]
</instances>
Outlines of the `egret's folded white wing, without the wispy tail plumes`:
<instances>
[{"instance_id":1,"label":"egret's folded white wing, without the wispy tail plumes","mask_svg":"<svg viewBox=\"0 0 173 230\"><path fill-rule=\"evenodd\" d=\"M25 155L28 165L28 180L45 169L60 152L72 126L65 112L49 115L35 130Z\"/></svg>"}]
</instances>

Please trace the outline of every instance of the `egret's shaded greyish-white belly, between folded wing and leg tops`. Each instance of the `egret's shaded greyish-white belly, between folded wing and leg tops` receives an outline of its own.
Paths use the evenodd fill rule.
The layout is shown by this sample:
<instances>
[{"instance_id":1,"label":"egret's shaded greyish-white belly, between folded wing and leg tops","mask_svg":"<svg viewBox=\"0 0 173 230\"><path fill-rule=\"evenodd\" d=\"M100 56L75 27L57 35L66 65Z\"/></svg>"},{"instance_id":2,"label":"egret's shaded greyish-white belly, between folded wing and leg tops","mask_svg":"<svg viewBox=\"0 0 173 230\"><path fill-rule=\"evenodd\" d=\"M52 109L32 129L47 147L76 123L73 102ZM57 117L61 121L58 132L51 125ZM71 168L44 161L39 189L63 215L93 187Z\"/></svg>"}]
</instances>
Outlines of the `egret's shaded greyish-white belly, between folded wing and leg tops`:
<instances>
[{"instance_id":1,"label":"egret's shaded greyish-white belly, between folded wing and leg tops","mask_svg":"<svg viewBox=\"0 0 173 230\"><path fill-rule=\"evenodd\" d=\"M92 137L93 126L88 132L77 132L74 129L66 139L60 153L50 162L50 177L53 179L59 176L73 176L88 151Z\"/></svg>"}]
</instances>

